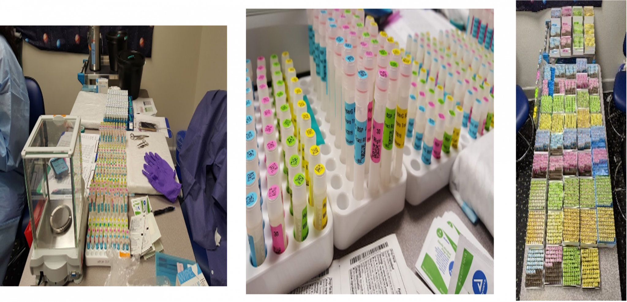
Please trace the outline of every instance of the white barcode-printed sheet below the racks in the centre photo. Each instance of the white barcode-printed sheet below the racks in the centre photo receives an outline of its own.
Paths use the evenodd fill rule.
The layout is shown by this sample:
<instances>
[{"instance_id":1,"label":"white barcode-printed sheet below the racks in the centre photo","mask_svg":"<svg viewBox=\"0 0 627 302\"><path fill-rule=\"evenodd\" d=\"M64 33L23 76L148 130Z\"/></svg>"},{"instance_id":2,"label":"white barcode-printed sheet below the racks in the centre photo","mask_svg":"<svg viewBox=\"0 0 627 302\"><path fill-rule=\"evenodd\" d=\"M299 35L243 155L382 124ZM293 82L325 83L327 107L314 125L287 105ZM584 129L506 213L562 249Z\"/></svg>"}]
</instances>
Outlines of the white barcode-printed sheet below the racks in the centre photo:
<instances>
[{"instance_id":1,"label":"white barcode-printed sheet below the racks in the centre photo","mask_svg":"<svg viewBox=\"0 0 627 302\"><path fill-rule=\"evenodd\" d=\"M396 234L357 249L290 294L416 294Z\"/></svg>"}]
</instances>

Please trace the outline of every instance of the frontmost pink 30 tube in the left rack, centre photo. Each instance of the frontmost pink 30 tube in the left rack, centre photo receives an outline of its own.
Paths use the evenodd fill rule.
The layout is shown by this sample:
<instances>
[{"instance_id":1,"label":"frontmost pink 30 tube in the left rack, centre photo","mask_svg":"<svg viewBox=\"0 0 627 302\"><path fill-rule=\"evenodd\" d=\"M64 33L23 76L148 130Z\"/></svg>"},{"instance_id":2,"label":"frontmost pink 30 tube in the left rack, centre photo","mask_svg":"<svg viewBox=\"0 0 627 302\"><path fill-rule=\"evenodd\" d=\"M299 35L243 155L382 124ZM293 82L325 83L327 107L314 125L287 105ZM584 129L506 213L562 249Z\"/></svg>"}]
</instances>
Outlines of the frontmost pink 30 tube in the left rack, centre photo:
<instances>
[{"instance_id":1,"label":"frontmost pink 30 tube in the left rack, centre photo","mask_svg":"<svg viewBox=\"0 0 627 302\"><path fill-rule=\"evenodd\" d=\"M287 248L281 186L273 185L268 189L268 220L270 221L272 250L281 254Z\"/></svg>"}]
</instances>

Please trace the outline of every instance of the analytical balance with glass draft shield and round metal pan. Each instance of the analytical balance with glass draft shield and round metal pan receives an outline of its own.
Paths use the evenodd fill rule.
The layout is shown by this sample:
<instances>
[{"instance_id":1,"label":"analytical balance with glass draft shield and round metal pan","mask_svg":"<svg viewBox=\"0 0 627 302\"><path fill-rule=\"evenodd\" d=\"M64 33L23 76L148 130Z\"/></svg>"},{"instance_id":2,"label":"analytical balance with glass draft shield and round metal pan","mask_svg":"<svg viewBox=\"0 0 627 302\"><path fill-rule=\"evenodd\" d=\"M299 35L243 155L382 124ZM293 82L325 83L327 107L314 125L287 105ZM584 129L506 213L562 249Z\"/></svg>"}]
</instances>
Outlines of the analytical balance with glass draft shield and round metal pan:
<instances>
[{"instance_id":1,"label":"analytical balance with glass draft shield and round metal pan","mask_svg":"<svg viewBox=\"0 0 627 302\"><path fill-rule=\"evenodd\" d=\"M22 150L33 232L30 272L50 286L83 279L87 198L80 117L40 116Z\"/></svg>"}]
</instances>

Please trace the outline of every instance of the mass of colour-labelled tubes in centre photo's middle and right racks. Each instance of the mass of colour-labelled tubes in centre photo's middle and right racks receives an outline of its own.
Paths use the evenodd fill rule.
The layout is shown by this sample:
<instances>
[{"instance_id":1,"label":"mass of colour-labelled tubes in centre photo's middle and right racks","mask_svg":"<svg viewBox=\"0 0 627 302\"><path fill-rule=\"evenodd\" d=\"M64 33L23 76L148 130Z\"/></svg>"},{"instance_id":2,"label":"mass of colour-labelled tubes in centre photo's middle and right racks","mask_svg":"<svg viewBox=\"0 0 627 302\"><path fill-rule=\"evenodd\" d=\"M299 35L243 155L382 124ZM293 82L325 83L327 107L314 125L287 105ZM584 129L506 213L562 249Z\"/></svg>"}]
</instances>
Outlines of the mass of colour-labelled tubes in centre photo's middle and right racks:
<instances>
[{"instance_id":1,"label":"mass of colour-labelled tubes in centre photo's middle and right racks","mask_svg":"<svg viewBox=\"0 0 627 302\"><path fill-rule=\"evenodd\" d=\"M320 10L319 13L320 16L317 19L323 20L327 11ZM475 109L477 121L472 123L472 119L470 120L472 127L469 130L469 134L473 138L477 136L478 124L480 122L485 124L487 120L488 125L492 124L493 96L488 91L490 91L490 86L493 83L493 64L488 61L487 55L483 53L483 49L479 48L476 42L473 44L473 41L469 39L468 43L471 46L468 46L464 37L456 37L456 32L451 34L447 32L446 38L443 37L443 32L440 32L440 43L438 44L435 38L433 38L433 43L431 43L427 33L427 43L424 43L423 34L423 37L420 38L421 43L416 48L416 51L412 49L410 53L406 52L406 56L401 59L400 54L403 50L393 49L395 46L394 39L387 37L387 34L384 32L379 33L378 40L372 39L372 44L369 45L366 42L369 33L363 33L363 39L359 42L360 36L346 24L341 24L344 18L327 18L325 20L329 22L326 31L323 29L324 23L322 21L318 25L314 22L313 40L310 34L310 48L312 44L315 45L313 46L314 51L310 52L310 54L313 54L312 59L314 66L316 66L316 73L315 75L312 73L312 78L314 79L314 89L317 90L317 95L322 100L322 109L327 111L326 119L331 124L331 133L335 135L335 146L342 148L340 159L345 161L346 156L351 158L353 155L357 155L355 156L356 171L353 173L352 161L348 161L346 175L349 180L353 180L352 175L355 175L356 189L354 189L354 196L357 199L362 197L361 190L358 189L362 188L363 185L363 180L360 178L364 174L360 166L364 162L362 154L369 154L375 171L369 175L369 187L376 191L377 184L379 184L378 170L380 159L382 161L381 166L386 167L386 169L381 170L381 183L389 183L390 171L387 167L391 164L392 143L394 142L394 145L397 147L395 149L402 149L405 129L407 128L407 136L411 137L414 128L414 118L409 118L409 125L407 124L408 103L409 116L413 117L416 114L414 148L418 150L423 149L422 159L424 164L431 163L432 150L434 158L440 158L441 150L448 153L451 143L453 143L453 136L456 137L455 144L453 144L454 148L456 148L461 125L457 126L457 131L454 130L454 126L461 124L463 119L461 105L465 106L466 109L465 114L463 114L466 117L466 121L470 118L472 110ZM334 24L336 21L340 22L340 24ZM371 25L372 27L368 30L374 29L376 31L376 23ZM340 32L338 30L339 26L344 31ZM324 41L327 40L325 39L325 33L330 41L335 40L334 51L318 51L325 46ZM316 35L320 35L320 38ZM347 38L339 35L344 35ZM418 37L418 34L416 34L416 41L418 41ZM361 46L359 58L356 58L356 51L353 45L346 43L347 39L352 41L352 43L359 42ZM408 43L413 40L410 36ZM473 45L477 50L473 49ZM439 52L438 48L440 49ZM391 50L391 54L386 49ZM424 49L427 50L424 51ZM431 49L433 49L433 58ZM379 53L378 58L375 56L377 51ZM476 55L472 56L471 52ZM317 56L317 54L322 55L323 53L329 54L326 61ZM334 64L330 64L330 59L332 58L330 53L335 53ZM438 56L439 53L441 53L440 56ZM414 55L412 56L412 54ZM456 60L458 54L461 61ZM391 57L391 61L388 61L388 57ZM401 59L401 64L397 63L399 59ZM410 59L413 59L413 71L411 71ZM363 66L363 70L356 72L356 61L358 66ZM371 83L374 82L376 75L373 72L374 61L377 61L379 80L377 81L377 86L372 89L374 90L375 108L374 123L371 123L373 93L369 92L372 84L368 83L368 76L370 76ZM484 62L482 63L482 61ZM324 64L327 65L324 66ZM319 66L322 67L319 68ZM398 76L399 69L401 69L400 79ZM448 73L446 72L447 69L449 70ZM479 72L475 74L473 70L479 70ZM342 71L344 72L342 73ZM411 86L409 85L410 71ZM328 74L324 74L325 72ZM486 77L489 80L484 80ZM329 80L327 85L324 81L325 78L335 78L335 81ZM462 79L464 79L463 82L461 81ZM357 88L355 88L356 83ZM472 88L475 91L476 99L472 99L473 93L470 92L471 83L473 85L478 84L478 88L474 86ZM429 89L427 90L427 88ZM465 103L462 102L463 99L461 97L463 95L461 91L464 90L468 91L466 95L468 101ZM416 95L418 95L418 98L416 98ZM456 96L458 99L457 103L453 101L453 96ZM492 99L492 102L489 101L488 97ZM356 99L357 106L355 105ZM385 109L383 109L384 104L386 106ZM460 108L457 108L458 106ZM458 123L455 123L455 111L458 111L457 115L460 116L458 117ZM367 122L364 121L366 112L368 114ZM477 112L480 113L477 114ZM394 120L395 115L396 121ZM482 116L485 118L480 118ZM364 123L366 126L366 152L363 149L364 140L362 139L364 137ZM482 132L483 128L482 126L480 132ZM490 127L485 128L489 129ZM339 133L334 133L337 129L339 129ZM340 135L342 132L345 133L345 136ZM344 138L345 143L342 142ZM371 138L372 143L370 143ZM424 141L423 146L420 146L421 141ZM356 142L357 144L355 144ZM381 148L381 144L383 148ZM402 156L402 150L396 151L394 174L397 177L401 176ZM368 164L369 161L366 161L366 173L369 168Z\"/></svg>"}]
</instances>

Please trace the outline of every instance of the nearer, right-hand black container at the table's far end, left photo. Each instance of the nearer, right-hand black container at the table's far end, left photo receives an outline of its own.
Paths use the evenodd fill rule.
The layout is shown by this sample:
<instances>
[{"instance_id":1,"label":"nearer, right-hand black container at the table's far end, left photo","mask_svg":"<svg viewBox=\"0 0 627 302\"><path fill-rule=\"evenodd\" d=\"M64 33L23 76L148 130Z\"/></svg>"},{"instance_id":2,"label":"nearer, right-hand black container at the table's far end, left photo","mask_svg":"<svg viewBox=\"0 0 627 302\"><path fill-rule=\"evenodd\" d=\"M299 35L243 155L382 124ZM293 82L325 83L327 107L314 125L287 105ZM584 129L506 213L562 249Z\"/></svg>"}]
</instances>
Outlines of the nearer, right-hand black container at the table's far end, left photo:
<instances>
[{"instance_id":1,"label":"nearer, right-hand black container at the table's far end, left photo","mask_svg":"<svg viewBox=\"0 0 627 302\"><path fill-rule=\"evenodd\" d=\"M139 86L142 83L142 71L146 58L137 51L124 50L118 54L118 75L120 88L129 91L133 99L139 96Z\"/></svg>"}]
</instances>

